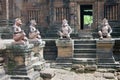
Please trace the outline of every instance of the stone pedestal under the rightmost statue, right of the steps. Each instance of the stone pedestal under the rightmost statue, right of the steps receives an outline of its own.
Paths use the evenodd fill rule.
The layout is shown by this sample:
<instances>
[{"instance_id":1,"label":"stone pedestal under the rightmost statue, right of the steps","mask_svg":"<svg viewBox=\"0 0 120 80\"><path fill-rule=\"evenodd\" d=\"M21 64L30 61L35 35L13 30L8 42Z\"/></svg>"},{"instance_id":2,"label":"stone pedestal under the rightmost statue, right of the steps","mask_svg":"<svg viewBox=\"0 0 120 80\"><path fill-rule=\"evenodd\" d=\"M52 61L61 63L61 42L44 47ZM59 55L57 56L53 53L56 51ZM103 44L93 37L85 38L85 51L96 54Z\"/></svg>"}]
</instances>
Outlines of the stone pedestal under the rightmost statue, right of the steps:
<instances>
[{"instance_id":1,"label":"stone pedestal under the rightmost statue, right of the steps","mask_svg":"<svg viewBox=\"0 0 120 80\"><path fill-rule=\"evenodd\" d=\"M114 40L103 39L97 41L97 64L100 63L115 63L115 59L113 57L113 46Z\"/></svg>"}]
</instances>

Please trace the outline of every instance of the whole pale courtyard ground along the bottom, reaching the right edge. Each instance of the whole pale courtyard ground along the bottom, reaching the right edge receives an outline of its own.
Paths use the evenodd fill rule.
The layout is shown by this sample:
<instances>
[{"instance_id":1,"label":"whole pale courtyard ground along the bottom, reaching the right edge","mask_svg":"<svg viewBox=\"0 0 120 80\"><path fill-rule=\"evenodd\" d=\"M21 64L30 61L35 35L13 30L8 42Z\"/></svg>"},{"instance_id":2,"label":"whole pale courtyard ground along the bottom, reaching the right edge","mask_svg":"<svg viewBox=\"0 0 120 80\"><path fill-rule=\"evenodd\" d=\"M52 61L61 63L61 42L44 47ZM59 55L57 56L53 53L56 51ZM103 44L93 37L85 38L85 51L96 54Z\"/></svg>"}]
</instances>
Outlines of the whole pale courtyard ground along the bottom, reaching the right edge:
<instances>
[{"instance_id":1,"label":"whole pale courtyard ground along the bottom, reaching the right edge","mask_svg":"<svg viewBox=\"0 0 120 80\"><path fill-rule=\"evenodd\" d=\"M115 69L99 68L94 72L76 73L71 68L50 68L47 65L46 73L54 75L51 79L44 80L120 80L119 72Z\"/></svg>"}]
</instances>

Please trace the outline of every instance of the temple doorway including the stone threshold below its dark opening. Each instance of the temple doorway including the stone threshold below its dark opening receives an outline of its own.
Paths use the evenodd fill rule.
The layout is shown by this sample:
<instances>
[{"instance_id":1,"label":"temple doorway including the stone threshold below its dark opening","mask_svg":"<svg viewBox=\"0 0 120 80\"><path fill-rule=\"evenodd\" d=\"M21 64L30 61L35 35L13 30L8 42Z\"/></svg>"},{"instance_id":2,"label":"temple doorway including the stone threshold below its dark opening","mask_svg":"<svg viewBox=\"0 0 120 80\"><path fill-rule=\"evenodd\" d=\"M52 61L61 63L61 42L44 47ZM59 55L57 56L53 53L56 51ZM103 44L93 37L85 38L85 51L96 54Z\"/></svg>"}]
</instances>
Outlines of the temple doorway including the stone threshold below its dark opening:
<instances>
[{"instance_id":1,"label":"temple doorway including the stone threshold below its dark opening","mask_svg":"<svg viewBox=\"0 0 120 80\"><path fill-rule=\"evenodd\" d=\"M93 5L81 4L79 38L82 39L92 38L92 32L91 32L92 25L93 25Z\"/></svg>"}]
</instances>

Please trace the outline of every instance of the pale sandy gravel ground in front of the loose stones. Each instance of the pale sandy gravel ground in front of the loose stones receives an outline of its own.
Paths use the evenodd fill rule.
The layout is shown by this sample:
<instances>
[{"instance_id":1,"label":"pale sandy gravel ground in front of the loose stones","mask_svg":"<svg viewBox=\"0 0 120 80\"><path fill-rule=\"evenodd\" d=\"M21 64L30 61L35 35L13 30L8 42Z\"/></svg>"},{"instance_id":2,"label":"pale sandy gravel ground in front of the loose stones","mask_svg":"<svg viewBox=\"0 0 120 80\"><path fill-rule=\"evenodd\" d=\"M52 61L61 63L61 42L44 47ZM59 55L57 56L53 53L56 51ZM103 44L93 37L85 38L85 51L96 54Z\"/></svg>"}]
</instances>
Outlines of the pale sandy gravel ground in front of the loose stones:
<instances>
[{"instance_id":1,"label":"pale sandy gravel ground in front of the loose stones","mask_svg":"<svg viewBox=\"0 0 120 80\"><path fill-rule=\"evenodd\" d=\"M55 69L48 68L49 70L53 70L55 76L52 79L45 80L118 80L115 76L115 73L104 73L104 72L92 72L92 73L75 73L68 69ZM106 76L104 76L106 74Z\"/></svg>"}]
</instances>

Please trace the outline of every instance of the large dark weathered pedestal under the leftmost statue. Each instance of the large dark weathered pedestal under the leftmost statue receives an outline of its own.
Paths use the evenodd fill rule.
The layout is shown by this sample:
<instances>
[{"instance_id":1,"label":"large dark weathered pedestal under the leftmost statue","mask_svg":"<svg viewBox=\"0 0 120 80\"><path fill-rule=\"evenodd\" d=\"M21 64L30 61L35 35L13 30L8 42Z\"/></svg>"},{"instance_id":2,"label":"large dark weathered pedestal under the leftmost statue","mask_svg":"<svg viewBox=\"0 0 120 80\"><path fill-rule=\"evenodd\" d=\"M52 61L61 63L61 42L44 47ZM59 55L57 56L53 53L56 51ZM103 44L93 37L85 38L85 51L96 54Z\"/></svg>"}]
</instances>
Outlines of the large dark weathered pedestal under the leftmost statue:
<instances>
[{"instance_id":1,"label":"large dark weathered pedestal under the leftmost statue","mask_svg":"<svg viewBox=\"0 0 120 80\"><path fill-rule=\"evenodd\" d=\"M33 45L11 44L7 46L7 66L11 79L38 80L39 72L35 72L31 62L31 50Z\"/></svg>"}]
</instances>

